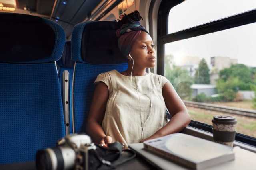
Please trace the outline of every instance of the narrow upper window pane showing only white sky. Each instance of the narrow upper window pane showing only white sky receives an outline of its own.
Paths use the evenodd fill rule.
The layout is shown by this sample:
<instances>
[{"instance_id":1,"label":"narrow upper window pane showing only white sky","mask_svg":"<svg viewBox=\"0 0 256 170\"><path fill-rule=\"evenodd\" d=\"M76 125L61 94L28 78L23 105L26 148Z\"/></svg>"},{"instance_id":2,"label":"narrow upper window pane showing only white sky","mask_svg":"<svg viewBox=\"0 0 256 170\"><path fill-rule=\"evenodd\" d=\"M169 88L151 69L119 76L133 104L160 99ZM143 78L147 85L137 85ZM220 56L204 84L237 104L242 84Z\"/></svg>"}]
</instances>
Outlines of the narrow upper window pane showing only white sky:
<instances>
[{"instance_id":1,"label":"narrow upper window pane showing only white sky","mask_svg":"<svg viewBox=\"0 0 256 170\"><path fill-rule=\"evenodd\" d=\"M186 0L169 13L168 33L256 8L255 0ZM203 17L202 17L203 16Z\"/></svg>"}]
</instances>

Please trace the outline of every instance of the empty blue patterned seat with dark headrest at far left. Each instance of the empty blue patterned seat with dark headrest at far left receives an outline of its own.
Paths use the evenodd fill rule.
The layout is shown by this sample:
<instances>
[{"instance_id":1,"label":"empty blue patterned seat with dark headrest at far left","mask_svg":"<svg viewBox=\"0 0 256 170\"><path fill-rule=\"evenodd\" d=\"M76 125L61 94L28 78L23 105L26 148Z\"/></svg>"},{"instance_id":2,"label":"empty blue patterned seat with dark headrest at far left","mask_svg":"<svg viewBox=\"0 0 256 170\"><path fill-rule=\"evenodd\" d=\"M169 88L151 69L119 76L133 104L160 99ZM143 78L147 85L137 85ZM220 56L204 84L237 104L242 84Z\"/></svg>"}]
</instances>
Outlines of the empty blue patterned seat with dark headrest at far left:
<instances>
[{"instance_id":1,"label":"empty blue patterned seat with dark headrest at far left","mask_svg":"<svg viewBox=\"0 0 256 170\"><path fill-rule=\"evenodd\" d=\"M37 16L0 13L0 164L28 162L64 137L55 61L64 30Z\"/></svg>"}]
</instances>

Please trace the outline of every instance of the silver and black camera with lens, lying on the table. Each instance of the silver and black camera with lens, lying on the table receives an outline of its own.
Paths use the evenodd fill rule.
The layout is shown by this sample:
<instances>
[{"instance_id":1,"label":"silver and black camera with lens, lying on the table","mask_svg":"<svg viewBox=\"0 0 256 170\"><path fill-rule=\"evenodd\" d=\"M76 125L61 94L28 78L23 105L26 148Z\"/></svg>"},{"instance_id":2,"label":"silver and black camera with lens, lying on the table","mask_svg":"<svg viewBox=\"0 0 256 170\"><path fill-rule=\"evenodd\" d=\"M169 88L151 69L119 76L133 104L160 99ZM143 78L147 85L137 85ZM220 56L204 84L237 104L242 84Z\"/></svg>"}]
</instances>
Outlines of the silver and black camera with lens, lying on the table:
<instances>
[{"instance_id":1,"label":"silver and black camera with lens, lying on the table","mask_svg":"<svg viewBox=\"0 0 256 170\"><path fill-rule=\"evenodd\" d=\"M67 135L60 139L57 147L38 150L38 170L89 170L96 169L99 162L95 157L96 145L88 135Z\"/></svg>"}]
</instances>

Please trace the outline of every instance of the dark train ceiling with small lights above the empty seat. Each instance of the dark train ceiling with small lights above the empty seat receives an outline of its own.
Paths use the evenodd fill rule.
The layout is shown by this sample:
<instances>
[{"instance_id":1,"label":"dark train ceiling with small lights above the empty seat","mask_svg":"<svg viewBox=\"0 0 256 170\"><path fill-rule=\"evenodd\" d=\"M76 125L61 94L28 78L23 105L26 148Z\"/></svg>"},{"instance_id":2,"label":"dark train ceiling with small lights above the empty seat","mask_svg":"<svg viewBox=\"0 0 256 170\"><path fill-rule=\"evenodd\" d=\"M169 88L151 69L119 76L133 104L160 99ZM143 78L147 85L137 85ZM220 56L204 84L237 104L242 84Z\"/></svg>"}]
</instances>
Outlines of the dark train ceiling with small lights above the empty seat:
<instances>
[{"instance_id":1,"label":"dark train ceiling with small lights above the empty seat","mask_svg":"<svg viewBox=\"0 0 256 170\"><path fill-rule=\"evenodd\" d=\"M90 16L102 1L107 0L0 0L0 4L15 10L8 12L40 16L57 22L68 39L74 25Z\"/></svg>"}]
</instances>

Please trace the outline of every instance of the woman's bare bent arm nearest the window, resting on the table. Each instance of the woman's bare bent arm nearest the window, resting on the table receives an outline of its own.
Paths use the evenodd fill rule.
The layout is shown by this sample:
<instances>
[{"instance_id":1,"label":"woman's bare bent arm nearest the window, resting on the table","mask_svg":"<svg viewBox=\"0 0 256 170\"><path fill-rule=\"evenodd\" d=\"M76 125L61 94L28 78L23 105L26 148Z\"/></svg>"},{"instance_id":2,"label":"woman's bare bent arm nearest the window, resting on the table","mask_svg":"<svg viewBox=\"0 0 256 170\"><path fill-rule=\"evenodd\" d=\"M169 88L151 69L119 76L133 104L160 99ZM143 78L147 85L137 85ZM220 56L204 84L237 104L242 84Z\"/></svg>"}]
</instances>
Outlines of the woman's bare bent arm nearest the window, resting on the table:
<instances>
[{"instance_id":1,"label":"woman's bare bent arm nearest the window, resting on the table","mask_svg":"<svg viewBox=\"0 0 256 170\"><path fill-rule=\"evenodd\" d=\"M172 119L170 119L166 126L156 131L152 136L144 139L144 141L169 135L171 133L177 133L190 123L188 110L170 82L167 82L164 85L162 92L164 102L168 111L172 115Z\"/></svg>"}]
</instances>

